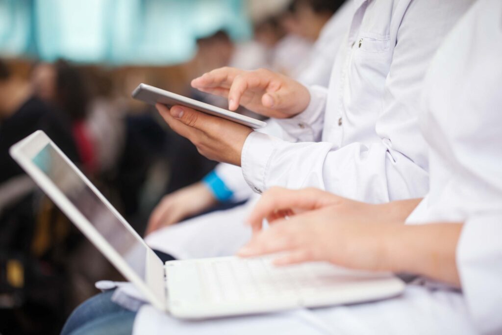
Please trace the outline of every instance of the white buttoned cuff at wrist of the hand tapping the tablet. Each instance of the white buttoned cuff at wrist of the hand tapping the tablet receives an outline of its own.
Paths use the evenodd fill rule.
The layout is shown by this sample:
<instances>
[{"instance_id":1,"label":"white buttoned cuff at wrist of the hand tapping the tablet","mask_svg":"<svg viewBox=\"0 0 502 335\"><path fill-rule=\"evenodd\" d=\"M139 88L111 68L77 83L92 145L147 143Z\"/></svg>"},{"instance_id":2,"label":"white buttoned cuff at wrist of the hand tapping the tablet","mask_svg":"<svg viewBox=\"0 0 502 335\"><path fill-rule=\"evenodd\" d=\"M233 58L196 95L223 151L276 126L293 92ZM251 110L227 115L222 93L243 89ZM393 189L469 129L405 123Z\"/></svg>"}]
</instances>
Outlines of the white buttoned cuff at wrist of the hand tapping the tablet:
<instances>
[{"instance_id":1,"label":"white buttoned cuff at wrist of the hand tapping the tablet","mask_svg":"<svg viewBox=\"0 0 502 335\"><path fill-rule=\"evenodd\" d=\"M308 87L310 102L302 113L289 119L279 119L277 122L293 138L302 142L317 142L324 121L327 90L322 86Z\"/></svg>"}]
</instances>

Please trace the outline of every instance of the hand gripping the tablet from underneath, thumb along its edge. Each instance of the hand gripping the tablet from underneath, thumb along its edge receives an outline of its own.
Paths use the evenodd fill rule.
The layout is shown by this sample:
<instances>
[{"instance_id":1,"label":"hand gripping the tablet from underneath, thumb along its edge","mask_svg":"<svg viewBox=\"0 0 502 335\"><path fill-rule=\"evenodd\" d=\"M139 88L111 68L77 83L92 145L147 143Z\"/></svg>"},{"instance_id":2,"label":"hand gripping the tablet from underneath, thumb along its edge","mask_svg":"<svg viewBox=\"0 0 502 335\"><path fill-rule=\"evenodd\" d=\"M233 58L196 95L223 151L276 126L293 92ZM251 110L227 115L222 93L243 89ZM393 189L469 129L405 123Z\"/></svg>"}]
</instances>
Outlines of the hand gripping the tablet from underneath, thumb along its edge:
<instances>
[{"instance_id":1,"label":"hand gripping the tablet from underneath, thumb along its edge","mask_svg":"<svg viewBox=\"0 0 502 335\"><path fill-rule=\"evenodd\" d=\"M253 132L251 128L184 106L176 105L169 110L157 103L156 107L169 127L190 140L201 155L240 166L242 147Z\"/></svg>"}]
</instances>

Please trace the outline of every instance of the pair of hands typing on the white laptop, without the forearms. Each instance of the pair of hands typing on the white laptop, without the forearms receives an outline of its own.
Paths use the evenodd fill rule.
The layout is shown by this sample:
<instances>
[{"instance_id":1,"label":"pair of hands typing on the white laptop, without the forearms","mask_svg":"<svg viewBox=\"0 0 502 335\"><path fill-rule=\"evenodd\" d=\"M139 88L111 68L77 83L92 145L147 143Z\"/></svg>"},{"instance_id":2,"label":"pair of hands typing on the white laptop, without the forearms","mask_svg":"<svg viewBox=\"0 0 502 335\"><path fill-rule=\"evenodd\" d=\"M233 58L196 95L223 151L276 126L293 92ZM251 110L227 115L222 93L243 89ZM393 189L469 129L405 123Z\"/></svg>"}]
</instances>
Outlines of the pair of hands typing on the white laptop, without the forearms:
<instances>
[{"instance_id":1,"label":"pair of hands typing on the white laptop, without the forearms","mask_svg":"<svg viewBox=\"0 0 502 335\"><path fill-rule=\"evenodd\" d=\"M392 271L383 260L385 237L401 227L396 222L404 222L407 215L402 217L389 206L353 201L317 189L273 188L250 215L248 222L255 234L238 255L282 252L285 254L275 259L276 265L327 261L348 268ZM270 228L261 231L264 218Z\"/></svg>"}]
</instances>

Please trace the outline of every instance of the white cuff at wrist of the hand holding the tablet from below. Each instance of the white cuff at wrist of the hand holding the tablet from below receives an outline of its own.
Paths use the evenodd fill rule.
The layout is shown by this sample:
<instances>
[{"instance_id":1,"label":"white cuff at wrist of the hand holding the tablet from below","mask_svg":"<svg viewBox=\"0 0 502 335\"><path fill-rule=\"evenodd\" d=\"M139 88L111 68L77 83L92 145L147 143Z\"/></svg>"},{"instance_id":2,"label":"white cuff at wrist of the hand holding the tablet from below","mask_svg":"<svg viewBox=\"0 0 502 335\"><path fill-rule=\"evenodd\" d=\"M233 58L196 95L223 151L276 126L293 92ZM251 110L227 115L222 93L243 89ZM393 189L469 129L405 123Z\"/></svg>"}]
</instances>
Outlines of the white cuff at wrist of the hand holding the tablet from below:
<instances>
[{"instance_id":1,"label":"white cuff at wrist of the hand holding the tablet from below","mask_svg":"<svg viewBox=\"0 0 502 335\"><path fill-rule=\"evenodd\" d=\"M244 142L240 165L246 183L256 193L266 189L266 174L270 159L279 139L258 132L249 134Z\"/></svg>"}]
</instances>

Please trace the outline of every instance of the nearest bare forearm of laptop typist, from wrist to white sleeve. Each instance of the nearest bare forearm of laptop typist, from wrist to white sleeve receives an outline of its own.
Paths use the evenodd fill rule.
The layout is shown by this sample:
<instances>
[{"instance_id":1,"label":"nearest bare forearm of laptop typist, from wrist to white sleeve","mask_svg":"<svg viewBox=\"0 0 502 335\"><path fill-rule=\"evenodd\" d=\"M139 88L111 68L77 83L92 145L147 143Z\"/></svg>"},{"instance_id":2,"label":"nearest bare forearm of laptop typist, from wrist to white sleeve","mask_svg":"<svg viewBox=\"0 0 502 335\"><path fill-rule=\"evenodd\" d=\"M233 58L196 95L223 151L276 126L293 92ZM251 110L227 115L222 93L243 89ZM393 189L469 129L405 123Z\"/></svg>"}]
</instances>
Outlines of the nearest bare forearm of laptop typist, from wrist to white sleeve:
<instances>
[{"instance_id":1,"label":"nearest bare forearm of laptop typist, from wrist to white sleeve","mask_svg":"<svg viewBox=\"0 0 502 335\"><path fill-rule=\"evenodd\" d=\"M460 286L456 248L463 224L388 227L381 240L380 270L410 272Z\"/></svg>"}]
</instances>

